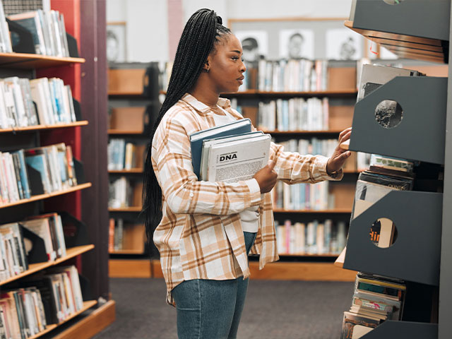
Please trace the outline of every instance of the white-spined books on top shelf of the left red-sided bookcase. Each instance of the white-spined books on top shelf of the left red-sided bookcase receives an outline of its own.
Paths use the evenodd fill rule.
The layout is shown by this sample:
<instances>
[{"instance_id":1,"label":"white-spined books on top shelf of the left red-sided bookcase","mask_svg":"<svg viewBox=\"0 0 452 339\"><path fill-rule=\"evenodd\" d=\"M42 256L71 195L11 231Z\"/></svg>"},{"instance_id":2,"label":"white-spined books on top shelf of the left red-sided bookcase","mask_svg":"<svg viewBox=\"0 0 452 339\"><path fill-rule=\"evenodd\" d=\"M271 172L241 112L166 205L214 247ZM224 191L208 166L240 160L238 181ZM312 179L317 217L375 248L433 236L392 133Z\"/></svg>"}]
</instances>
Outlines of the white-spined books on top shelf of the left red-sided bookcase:
<instances>
[{"instance_id":1,"label":"white-spined books on top shelf of the left red-sided bookcase","mask_svg":"<svg viewBox=\"0 0 452 339\"><path fill-rule=\"evenodd\" d=\"M55 57L69 57L64 16L59 11L30 11L8 16L31 32L35 53Z\"/></svg>"}]
</instances>

